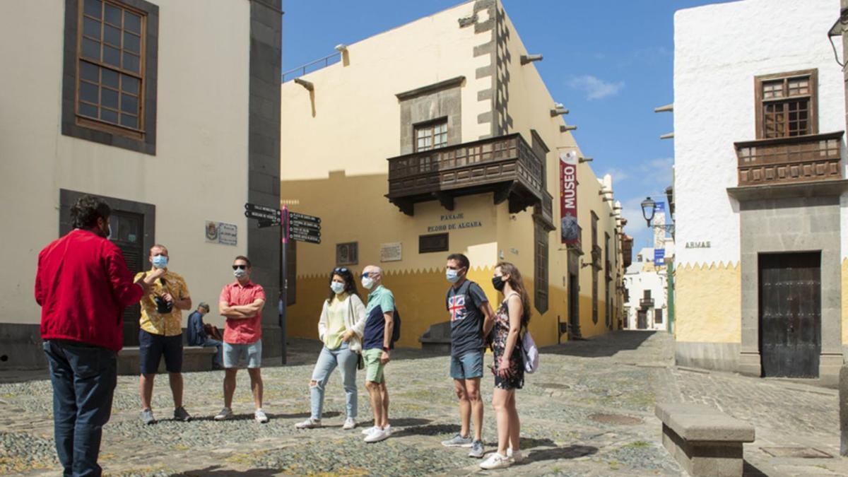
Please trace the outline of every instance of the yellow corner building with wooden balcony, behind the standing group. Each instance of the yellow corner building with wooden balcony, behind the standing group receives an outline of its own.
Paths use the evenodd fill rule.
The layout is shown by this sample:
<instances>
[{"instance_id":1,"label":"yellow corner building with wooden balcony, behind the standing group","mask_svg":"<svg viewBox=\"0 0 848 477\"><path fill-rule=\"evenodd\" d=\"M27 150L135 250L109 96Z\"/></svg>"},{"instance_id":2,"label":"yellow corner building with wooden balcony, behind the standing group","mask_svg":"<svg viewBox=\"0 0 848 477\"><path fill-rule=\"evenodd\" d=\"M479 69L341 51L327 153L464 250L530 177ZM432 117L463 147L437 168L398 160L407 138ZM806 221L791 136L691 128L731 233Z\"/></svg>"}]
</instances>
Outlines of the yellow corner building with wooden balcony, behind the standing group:
<instances>
[{"instance_id":1,"label":"yellow corner building with wooden balcony, behind the standing group","mask_svg":"<svg viewBox=\"0 0 848 477\"><path fill-rule=\"evenodd\" d=\"M337 63L282 84L282 203L321 217L321 244L290 254L289 336L317 338L333 267L372 264L403 317L399 345L420 346L448 321L453 252L469 257L468 277L493 304L495 264L516 264L539 345L619 327L611 177L577 165L581 244L561 244L560 157L583 154L499 2L338 49Z\"/></svg>"}]
</instances>

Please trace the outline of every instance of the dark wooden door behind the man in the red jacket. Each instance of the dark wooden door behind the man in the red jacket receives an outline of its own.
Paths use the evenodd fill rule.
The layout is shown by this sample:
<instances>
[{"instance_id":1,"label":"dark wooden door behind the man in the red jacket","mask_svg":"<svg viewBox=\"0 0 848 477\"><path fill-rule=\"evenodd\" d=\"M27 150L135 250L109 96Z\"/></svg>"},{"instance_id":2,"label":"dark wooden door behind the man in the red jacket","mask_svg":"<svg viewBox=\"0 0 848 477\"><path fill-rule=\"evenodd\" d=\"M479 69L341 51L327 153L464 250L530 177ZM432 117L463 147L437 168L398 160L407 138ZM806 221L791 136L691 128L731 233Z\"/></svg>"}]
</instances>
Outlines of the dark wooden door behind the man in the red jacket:
<instances>
[{"instance_id":1,"label":"dark wooden door behind the man in the red jacket","mask_svg":"<svg viewBox=\"0 0 848 477\"><path fill-rule=\"evenodd\" d=\"M123 210L112 210L109 216L112 234L109 239L118 245L124 253L126 267L130 272L136 274L150 268L148 254L143 250L144 239L144 216ZM142 308L137 303L127 306L122 317L124 321L124 345L138 345L138 320L141 317Z\"/></svg>"}]
</instances>

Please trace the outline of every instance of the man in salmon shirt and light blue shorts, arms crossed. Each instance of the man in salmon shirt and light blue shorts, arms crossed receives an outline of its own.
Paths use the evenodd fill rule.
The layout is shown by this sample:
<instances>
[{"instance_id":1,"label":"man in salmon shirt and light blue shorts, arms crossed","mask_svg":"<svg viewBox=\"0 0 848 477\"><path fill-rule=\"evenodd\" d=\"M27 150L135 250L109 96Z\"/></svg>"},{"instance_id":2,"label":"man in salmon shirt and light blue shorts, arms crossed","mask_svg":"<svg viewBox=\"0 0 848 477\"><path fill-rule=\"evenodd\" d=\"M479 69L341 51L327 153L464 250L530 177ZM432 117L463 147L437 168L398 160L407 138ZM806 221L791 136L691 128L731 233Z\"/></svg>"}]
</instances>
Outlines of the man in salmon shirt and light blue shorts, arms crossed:
<instances>
[{"instance_id":1,"label":"man in salmon shirt and light blue shorts, arms crossed","mask_svg":"<svg viewBox=\"0 0 848 477\"><path fill-rule=\"evenodd\" d=\"M250 389L254 393L258 423L267 423L262 410L262 306L265 290L250 281L250 261L238 255L232 263L236 281L220 290L218 310L226 317L224 328L224 408L215 416L216 421L232 418L232 394L236 391L236 373L239 362L247 360Z\"/></svg>"}]
</instances>

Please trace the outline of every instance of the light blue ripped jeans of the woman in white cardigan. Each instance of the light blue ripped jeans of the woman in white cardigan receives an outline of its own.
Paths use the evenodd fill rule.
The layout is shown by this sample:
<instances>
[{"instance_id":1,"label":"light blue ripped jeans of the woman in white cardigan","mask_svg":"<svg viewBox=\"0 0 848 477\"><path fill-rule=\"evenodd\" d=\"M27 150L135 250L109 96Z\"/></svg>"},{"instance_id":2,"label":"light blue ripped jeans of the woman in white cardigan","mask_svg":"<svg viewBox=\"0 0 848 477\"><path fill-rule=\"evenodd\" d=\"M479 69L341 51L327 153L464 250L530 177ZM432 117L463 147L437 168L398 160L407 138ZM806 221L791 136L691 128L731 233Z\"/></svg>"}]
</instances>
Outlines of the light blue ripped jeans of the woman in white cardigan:
<instances>
[{"instance_id":1,"label":"light blue ripped jeans of the woman in white cardigan","mask_svg":"<svg viewBox=\"0 0 848 477\"><path fill-rule=\"evenodd\" d=\"M310 397L312 401L312 418L320 419L324 408L324 388L330 379L332 370L338 366L342 371L342 382L344 384L345 401L349 418L356 418L356 361L358 356L354 351L348 349L347 343L342 343L338 349L329 350L326 346L318 356L315 370L312 371L312 380L315 385L310 384Z\"/></svg>"}]
</instances>

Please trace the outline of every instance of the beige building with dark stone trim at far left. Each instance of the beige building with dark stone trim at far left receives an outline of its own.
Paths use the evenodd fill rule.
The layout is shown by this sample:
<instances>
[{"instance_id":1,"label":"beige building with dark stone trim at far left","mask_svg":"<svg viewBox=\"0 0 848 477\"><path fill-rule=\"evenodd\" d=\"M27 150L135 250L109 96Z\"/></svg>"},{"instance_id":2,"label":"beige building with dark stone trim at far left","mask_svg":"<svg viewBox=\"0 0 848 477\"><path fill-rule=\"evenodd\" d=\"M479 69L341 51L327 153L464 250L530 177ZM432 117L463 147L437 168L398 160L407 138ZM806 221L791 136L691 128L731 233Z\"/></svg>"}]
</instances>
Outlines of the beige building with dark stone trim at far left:
<instances>
[{"instance_id":1,"label":"beige building with dark stone trim at far left","mask_svg":"<svg viewBox=\"0 0 848 477\"><path fill-rule=\"evenodd\" d=\"M0 3L0 256L14 270L0 278L0 369L44 366L37 254L82 194L109 201L133 272L165 244L195 304L215 304L249 255L279 343L279 232L249 229L243 205L279 200L281 18L279 0ZM135 345L137 307L123 319Z\"/></svg>"}]
</instances>

